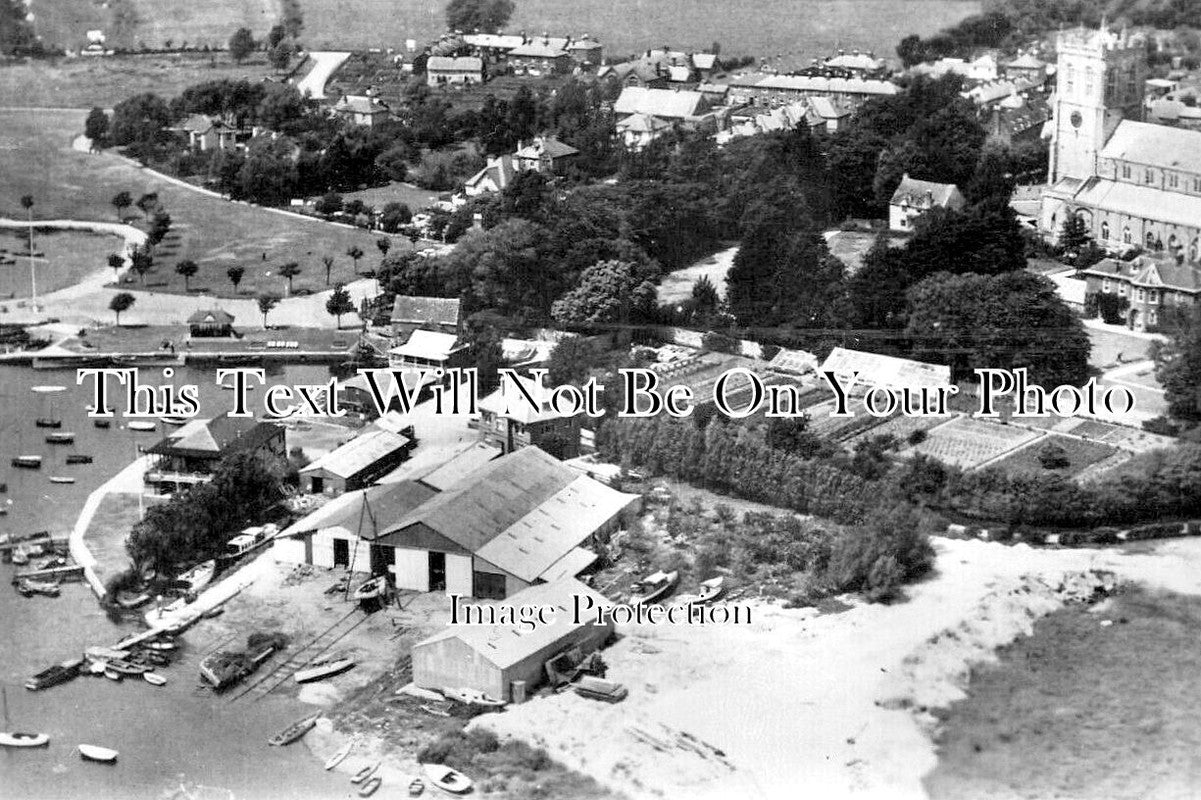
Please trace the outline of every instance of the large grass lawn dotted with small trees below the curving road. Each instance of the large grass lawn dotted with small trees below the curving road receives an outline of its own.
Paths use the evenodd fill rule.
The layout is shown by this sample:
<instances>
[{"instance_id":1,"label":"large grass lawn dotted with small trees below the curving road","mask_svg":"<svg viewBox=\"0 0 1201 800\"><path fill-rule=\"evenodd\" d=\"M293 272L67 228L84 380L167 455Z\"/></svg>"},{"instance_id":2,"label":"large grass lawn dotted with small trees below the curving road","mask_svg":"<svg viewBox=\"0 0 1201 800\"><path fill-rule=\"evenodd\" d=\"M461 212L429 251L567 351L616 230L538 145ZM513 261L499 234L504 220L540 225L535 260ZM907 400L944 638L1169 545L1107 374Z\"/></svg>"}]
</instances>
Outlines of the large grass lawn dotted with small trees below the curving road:
<instances>
[{"instance_id":1,"label":"large grass lawn dotted with small trees below the curving road","mask_svg":"<svg viewBox=\"0 0 1201 800\"><path fill-rule=\"evenodd\" d=\"M378 262L377 237L366 231L231 203L162 180L112 154L73 151L71 141L83 130L84 117L83 112L65 109L0 112L0 174L6 178L0 215L23 217L18 201L32 195L35 220L115 220L109 201L116 192L125 190L135 198L157 192L173 220L171 234L155 253L154 270L145 276L147 287L160 292L184 291L184 279L174 267L185 258L201 268L191 280L192 292L221 297L233 297L226 270L235 264L246 270L239 289L240 295L249 297L258 292L282 294L287 281L279 276L279 269L287 262L300 264L301 273L294 280L297 292L325 288L322 257L327 253L335 259L333 282L354 279L346 255L351 246L365 253L360 270ZM136 210L127 214L139 222ZM400 238L393 244L395 250L408 246ZM107 252L80 257L85 262L80 268L104 267Z\"/></svg>"}]
</instances>

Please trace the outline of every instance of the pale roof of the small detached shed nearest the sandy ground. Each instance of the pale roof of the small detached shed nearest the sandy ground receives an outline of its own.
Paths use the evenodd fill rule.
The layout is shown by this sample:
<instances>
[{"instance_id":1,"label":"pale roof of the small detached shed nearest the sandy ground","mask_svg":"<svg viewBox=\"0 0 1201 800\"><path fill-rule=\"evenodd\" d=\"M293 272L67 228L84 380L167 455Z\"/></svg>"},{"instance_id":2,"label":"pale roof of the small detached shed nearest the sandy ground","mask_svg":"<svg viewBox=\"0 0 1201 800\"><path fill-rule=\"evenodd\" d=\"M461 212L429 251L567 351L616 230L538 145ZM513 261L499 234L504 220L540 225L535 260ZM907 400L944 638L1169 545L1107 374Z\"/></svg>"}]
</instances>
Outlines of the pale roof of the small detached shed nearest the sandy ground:
<instances>
[{"instance_id":1,"label":"pale roof of the small detached shed nearest the sandy ground","mask_svg":"<svg viewBox=\"0 0 1201 800\"><path fill-rule=\"evenodd\" d=\"M413 645L413 658L422 658L423 650L446 639L459 639L483 656L492 665L504 669L525 658L550 649L569 633L588 625L585 616L576 623L573 619L575 598L592 598L597 605L608 605L600 592L567 578L552 584L530 586L504 599L506 607L539 605L556 609L554 625L538 625L531 631L521 625L456 625ZM488 603L479 603L488 605Z\"/></svg>"}]
</instances>

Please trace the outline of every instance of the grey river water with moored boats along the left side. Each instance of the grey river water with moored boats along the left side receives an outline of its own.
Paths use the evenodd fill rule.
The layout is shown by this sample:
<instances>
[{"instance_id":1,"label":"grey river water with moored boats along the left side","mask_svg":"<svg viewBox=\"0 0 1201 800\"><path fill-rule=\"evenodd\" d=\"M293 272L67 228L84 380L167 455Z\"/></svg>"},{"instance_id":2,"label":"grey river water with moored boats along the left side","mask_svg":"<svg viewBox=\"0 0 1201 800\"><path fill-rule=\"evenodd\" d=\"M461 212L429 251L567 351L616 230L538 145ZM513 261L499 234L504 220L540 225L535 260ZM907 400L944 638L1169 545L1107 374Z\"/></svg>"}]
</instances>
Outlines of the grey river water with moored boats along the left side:
<instances>
[{"instance_id":1,"label":"grey river water with moored boats along the left side","mask_svg":"<svg viewBox=\"0 0 1201 800\"><path fill-rule=\"evenodd\" d=\"M269 380L317 383L328 380L328 372L323 366L289 366ZM173 382L201 388L202 416L223 413L231 404L233 393L215 386L209 368L180 369ZM44 395L30 390L37 384L68 388ZM8 484L0 502L10 508L0 517L0 532L50 530L65 536L86 496L135 458L137 444L151 444L163 435L161 425L155 434L136 434L120 420L109 430L96 429L85 416L89 402L89 390L76 387L73 371L0 366L0 482ZM62 419L62 430L76 432L73 447L44 443L47 431L34 420L50 414ZM91 454L95 462L66 466L65 456L72 452ZM10 460L18 453L42 454L42 468L12 468ZM49 483L59 474L71 474L77 483ZM47 733L50 746L0 748L0 796L136 800L172 796L180 784L203 798L355 796L345 776L323 771L303 744L267 745L269 735L310 706L275 695L231 703L201 687L199 658L219 644L203 622L183 637L181 658L161 670L168 680L163 687L80 676L64 686L26 691L29 675L142 626L110 621L83 583L64 584L58 598L23 598L7 586L12 569L0 565L0 681L11 729ZM76 752L80 742L112 747L120 758L115 765L84 762Z\"/></svg>"}]
</instances>

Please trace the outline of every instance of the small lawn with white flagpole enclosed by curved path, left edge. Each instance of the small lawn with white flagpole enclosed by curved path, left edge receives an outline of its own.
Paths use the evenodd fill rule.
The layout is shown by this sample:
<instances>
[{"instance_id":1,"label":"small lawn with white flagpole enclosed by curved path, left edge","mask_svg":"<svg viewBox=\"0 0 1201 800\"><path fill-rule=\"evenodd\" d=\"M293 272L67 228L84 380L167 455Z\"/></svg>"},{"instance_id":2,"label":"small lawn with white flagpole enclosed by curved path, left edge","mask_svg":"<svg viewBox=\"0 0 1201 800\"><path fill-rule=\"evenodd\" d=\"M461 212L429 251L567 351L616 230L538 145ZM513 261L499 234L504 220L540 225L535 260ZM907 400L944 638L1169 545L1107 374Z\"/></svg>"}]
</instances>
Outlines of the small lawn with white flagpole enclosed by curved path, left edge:
<instances>
[{"instance_id":1,"label":"small lawn with white flagpole enclosed by curved path, left edge","mask_svg":"<svg viewBox=\"0 0 1201 800\"><path fill-rule=\"evenodd\" d=\"M28 232L16 228L0 232L0 299L29 297L29 246ZM124 243L116 237L106 237L84 231L55 231L34 234L34 271L37 293L78 283L88 273L103 264L112 252L119 252ZM8 263L8 262L12 263Z\"/></svg>"}]
</instances>

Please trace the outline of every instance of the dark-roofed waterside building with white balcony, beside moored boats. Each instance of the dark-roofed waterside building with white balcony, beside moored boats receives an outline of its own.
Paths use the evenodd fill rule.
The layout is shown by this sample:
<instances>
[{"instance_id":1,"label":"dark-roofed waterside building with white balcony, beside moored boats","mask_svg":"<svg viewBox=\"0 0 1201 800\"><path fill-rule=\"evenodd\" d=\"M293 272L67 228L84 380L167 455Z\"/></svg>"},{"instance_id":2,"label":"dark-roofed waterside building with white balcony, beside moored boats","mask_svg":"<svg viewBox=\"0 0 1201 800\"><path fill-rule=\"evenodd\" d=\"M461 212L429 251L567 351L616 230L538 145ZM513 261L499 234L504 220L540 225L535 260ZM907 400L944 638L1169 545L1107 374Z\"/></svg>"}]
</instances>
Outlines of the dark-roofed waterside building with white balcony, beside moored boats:
<instances>
[{"instance_id":1,"label":"dark-roofed waterside building with white balcony, beside moored boats","mask_svg":"<svg viewBox=\"0 0 1201 800\"><path fill-rule=\"evenodd\" d=\"M147 450L151 464L145 484L171 494L204 483L213 478L221 459L245 452L286 458L283 426L228 416L193 419Z\"/></svg>"}]
</instances>

